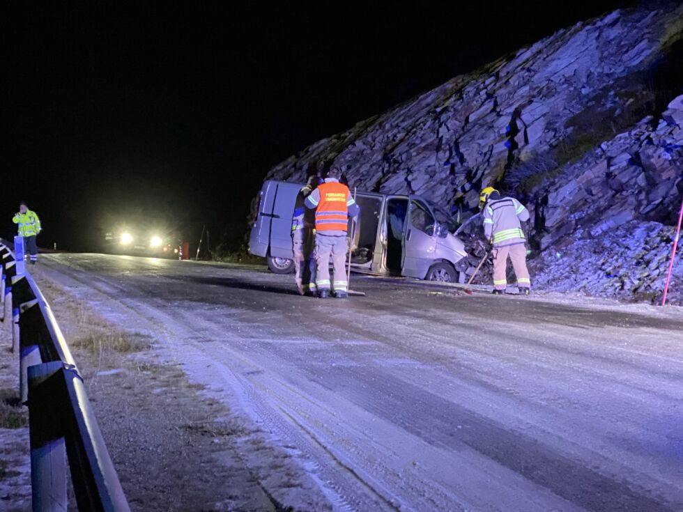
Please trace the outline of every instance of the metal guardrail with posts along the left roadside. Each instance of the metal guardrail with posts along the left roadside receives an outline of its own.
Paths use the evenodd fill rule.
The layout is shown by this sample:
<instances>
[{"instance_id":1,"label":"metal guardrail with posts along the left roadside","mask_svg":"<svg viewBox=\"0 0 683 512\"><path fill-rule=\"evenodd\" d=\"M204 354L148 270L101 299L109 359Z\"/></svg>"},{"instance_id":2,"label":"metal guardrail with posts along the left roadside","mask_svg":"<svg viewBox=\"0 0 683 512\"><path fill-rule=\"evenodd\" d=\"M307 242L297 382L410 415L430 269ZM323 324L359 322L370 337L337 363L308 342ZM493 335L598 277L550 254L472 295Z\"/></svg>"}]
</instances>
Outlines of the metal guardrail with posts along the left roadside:
<instances>
[{"instance_id":1,"label":"metal guardrail with posts along the left roadside","mask_svg":"<svg viewBox=\"0 0 683 512\"><path fill-rule=\"evenodd\" d=\"M68 458L79 511L130 512L83 378L43 293L25 272L21 237L14 247L13 254L0 240L0 320L10 306L21 401L29 406L33 511L68 508Z\"/></svg>"}]
</instances>

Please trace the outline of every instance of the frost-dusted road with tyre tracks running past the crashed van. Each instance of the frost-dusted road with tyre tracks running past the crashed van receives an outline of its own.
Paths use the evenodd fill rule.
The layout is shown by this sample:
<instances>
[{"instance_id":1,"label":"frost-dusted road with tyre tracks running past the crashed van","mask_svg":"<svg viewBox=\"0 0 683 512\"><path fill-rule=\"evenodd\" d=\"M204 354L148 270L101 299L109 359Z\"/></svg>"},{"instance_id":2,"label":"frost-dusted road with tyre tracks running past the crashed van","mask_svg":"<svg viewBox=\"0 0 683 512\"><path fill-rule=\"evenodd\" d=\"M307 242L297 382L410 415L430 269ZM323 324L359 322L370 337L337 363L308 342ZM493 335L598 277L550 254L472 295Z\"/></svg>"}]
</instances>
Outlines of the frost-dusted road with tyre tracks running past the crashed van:
<instances>
[{"instance_id":1,"label":"frost-dusted road with tyre tracks running past the crashed van","mask_svg":"<svg viewBox=\"0 0 683 512\"><path fill-rule=\"evenodd\" d=\"M153 329L296 451L335 509L683 510L681 309L367 277L352 279L367 297L322 301L254 267L40 264Z\"/></svg>"}]
</instances>

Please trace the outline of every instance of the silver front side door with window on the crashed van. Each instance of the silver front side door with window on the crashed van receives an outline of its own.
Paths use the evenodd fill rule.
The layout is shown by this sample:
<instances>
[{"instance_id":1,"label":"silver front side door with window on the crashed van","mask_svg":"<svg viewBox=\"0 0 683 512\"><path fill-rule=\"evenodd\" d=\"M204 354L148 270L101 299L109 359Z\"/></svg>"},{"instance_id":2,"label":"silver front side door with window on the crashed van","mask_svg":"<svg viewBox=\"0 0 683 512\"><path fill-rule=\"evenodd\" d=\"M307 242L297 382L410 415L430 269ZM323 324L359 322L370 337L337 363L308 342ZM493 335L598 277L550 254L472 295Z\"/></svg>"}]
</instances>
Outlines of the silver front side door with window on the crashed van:
<instances>
[{"instance_id":1,"label":"silver front side door with window on the crashed van","mask_svg":"<svg viewBox=\"0 0 683 512\"><path fill-rule=\"evenodd\" d=\"M420 196L410 196L407 217L401 273L424 279L436 252L436 218Z\"/></svg>"}]
</instances>

